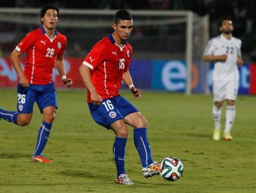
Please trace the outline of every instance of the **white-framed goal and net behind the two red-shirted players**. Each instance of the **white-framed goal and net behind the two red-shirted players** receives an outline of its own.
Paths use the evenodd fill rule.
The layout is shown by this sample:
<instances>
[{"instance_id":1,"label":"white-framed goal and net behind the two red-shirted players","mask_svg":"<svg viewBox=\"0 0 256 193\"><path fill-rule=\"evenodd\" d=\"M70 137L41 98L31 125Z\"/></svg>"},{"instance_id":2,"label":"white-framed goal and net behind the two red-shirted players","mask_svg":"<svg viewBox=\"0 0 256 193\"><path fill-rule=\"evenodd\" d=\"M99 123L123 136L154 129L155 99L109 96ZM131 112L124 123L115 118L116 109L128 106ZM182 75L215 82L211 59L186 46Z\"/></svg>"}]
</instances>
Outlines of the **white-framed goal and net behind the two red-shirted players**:
<instances>
[{"instance_id":1,"label":"white-framed goal and net behind the two red-shirted players","mask_svg":"<svg viewBox=\"0 0 256 193\"><path fill-rule=\"evenodd\" d=\"M66 35L66 57L85 57L92 46L113 31L116 10L61 9L57 29ZM208 92L208 65L201 61L208 41L208 17L190 11L130 10L134 29L129 37L134 59L183 61L186 66L185 90ZM18 41L38 28L39 9L0 8L0 33L12 44L3 50L10 54ZM3 36L2 36L3 37ZM2 41L2 42L1 42Z\"/></svg>"}]
</instances>

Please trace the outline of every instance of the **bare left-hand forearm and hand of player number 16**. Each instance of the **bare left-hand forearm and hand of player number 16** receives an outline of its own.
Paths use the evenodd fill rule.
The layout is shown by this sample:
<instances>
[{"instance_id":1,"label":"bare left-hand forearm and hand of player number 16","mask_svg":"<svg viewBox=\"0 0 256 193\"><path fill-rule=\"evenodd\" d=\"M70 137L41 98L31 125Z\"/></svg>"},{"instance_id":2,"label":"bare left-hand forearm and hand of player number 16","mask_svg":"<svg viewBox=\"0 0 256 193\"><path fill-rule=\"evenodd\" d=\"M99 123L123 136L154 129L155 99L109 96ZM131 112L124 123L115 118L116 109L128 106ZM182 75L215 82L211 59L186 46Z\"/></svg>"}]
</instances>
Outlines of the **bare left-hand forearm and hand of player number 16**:
<instances>
[{"instance_id":1,"label":"bare left-hand forearm and hand of player number 16","mask_svg":"<svg viewBox=\"0 0 256 193\"><path fill-rule=\"evenodd\" d=\"M79 72L82 77L82 81L84 82L84 85L91 93L91 103L93 103L93 105L100 105L100 103L102 102L102 97L98 94L95 86L93 85L93 82L91 81L91 69L82 63L79 68Z\"/></svg>"}]
</instances>

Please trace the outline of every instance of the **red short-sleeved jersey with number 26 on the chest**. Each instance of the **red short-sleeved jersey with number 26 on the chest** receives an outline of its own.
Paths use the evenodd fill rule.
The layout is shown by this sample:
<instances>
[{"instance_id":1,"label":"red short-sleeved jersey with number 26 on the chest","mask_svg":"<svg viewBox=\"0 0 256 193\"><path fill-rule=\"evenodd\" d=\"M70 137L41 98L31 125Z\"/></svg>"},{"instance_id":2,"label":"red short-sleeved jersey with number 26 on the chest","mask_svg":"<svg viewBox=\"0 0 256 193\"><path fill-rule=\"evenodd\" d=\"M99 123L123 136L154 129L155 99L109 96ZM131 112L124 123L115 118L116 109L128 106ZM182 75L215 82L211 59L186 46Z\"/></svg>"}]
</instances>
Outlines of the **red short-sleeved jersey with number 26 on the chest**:
<instances>
[{"instance_id":1,"label":"red short-sleeved jersey with number 26 on the chest","mask_svg":"<svg viewBox=\"0 0 256 193\"><path fill-rule=\"evenodd\" d=\"M53 68L58 56L66 50L66 37L55 30L51 39L43 26L29 32L16 46L17 52L26 52L24 74L28 83L44 85L53 81Z\"/></svg>"}]
</instances>

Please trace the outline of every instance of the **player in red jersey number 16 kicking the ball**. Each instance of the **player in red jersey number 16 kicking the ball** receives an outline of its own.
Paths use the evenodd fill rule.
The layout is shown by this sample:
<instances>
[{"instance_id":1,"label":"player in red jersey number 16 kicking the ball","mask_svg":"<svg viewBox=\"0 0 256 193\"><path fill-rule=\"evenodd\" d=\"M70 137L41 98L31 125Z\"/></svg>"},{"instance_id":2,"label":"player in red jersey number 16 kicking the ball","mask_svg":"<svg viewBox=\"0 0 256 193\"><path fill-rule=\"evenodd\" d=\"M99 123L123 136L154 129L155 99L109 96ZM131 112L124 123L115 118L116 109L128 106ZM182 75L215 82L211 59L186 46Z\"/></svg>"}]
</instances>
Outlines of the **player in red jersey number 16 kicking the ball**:
<instances>
[{"instance_id":1,"label":"player in red jersey number 16 kicking the ball","mask_svg":"<svg viewBox=\"0 0 256 193\"><path fill-rule=\"evenodd\" d=\"M125 146L127 125L134 128L134 144L140 156L143 175L147 178L159 174L159 165L152 159L147 140L147 120L120 96L122 81L140 99L140 90L134 86L129 74L132 48L127 39L133 28L133 19L127 10L116 12L113 20L113 34L108 34L96 43L85 57L80 74L88 90L87 102L91 116L96 123L113 130L116 139L113 143L113 156L116 162L116 183L133 185L125 171Z\"/></svg>"}]
</instances>

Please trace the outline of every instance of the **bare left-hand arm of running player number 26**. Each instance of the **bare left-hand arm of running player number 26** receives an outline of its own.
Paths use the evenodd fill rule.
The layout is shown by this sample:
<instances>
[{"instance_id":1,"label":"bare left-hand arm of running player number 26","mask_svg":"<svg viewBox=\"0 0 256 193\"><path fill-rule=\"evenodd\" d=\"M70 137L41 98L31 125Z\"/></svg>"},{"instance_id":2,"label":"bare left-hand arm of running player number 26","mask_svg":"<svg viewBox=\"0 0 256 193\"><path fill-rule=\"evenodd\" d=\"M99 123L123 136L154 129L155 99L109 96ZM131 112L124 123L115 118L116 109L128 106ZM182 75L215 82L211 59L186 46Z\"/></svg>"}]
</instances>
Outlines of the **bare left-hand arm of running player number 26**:
<instances>
[{"instance_id":1,"label":"bare left-hand arm of running player number 26","mask_svg":"<svg viewBox=\"0 0 256 193\"><path fill-rule=\"evenodd\" d=\"M28 80L26 79L22 69L21 64L19 62L19 57L22 55L21 52L18 52L16 49L12 51L12 54L10 54L10 61L12 62L13 68L15 68L15 71L19 77L19 83L23 87L28 87Z\"/></svg>"}]
</instances>

